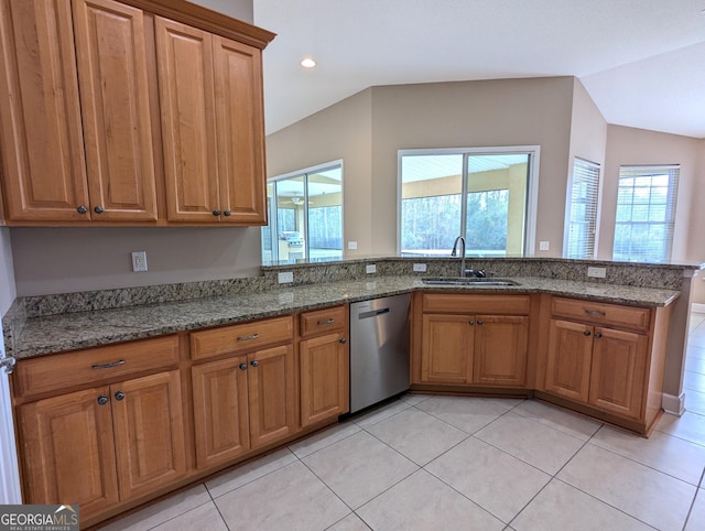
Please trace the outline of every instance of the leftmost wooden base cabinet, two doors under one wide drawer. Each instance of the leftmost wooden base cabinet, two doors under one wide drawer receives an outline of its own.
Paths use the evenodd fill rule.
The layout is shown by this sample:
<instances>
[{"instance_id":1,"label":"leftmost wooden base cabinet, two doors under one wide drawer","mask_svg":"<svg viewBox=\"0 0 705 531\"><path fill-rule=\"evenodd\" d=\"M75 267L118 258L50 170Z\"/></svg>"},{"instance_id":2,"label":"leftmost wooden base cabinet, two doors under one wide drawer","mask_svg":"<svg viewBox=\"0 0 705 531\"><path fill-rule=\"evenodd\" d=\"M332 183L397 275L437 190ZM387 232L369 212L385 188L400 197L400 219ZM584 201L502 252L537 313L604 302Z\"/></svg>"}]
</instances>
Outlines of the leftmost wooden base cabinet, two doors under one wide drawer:
<instances>
[{"instance_id":1,"label":"leftmost wooden base cabinet, two doors under one wide drawer","mask_svg":"<svg viewBox=\"0 0 705 531\"><path fill-rule=\"evenodd\" d=\"M177 359L176 337L165 336L21 360L24 501L70 500L89 521L185 477L181 378L164 367ZM61 366L62 376L52 378ZM84 389L70 391L77 387Z\"/></svg>"}]
</instances>

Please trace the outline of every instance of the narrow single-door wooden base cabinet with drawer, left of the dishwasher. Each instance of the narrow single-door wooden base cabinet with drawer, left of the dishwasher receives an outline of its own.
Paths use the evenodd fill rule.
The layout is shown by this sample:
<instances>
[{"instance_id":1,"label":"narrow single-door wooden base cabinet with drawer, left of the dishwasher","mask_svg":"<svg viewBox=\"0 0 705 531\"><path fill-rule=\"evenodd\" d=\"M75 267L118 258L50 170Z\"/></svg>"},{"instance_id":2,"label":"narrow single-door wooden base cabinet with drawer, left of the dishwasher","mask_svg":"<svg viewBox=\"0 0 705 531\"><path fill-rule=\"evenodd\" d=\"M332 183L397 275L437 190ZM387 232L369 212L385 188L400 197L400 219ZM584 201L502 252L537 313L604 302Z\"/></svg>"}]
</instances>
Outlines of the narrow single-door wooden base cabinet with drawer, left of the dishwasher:
<instances>
[{"instance_id":1,"label":"narrow single-door wooden base cabinet with drawer, left of the dishwasher","mask_svg":"<svg viewBox=\"0 0 705 531\"><path fill-rule=\"evenodd\" d=\"M348 306L300 315L301 425L336 419L350 410Z\"/></svg>"}]
</instances>

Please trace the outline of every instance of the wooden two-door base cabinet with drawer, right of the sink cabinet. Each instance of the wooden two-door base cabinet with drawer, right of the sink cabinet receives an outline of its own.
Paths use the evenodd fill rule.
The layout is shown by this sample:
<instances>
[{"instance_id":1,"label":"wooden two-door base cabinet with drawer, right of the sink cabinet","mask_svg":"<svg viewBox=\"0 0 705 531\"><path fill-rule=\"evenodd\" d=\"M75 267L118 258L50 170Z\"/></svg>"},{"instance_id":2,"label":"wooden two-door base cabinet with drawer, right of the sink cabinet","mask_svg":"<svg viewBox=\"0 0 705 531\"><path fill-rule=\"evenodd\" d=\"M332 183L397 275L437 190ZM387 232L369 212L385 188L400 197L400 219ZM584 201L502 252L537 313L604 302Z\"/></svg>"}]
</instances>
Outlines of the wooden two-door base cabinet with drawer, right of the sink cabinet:
<instances>
[{"instance_id":1,"label":"wooden two-door base cabinet with drawer, right of the sink cabinet","mask_svg":"<svg viewBox=\"0 0 705 531\"><path fill-rule=\"evenodd\" d=\"M646 432L661 410L669 313L551 297L540 389Z\"/></svg>"}]
</instances>

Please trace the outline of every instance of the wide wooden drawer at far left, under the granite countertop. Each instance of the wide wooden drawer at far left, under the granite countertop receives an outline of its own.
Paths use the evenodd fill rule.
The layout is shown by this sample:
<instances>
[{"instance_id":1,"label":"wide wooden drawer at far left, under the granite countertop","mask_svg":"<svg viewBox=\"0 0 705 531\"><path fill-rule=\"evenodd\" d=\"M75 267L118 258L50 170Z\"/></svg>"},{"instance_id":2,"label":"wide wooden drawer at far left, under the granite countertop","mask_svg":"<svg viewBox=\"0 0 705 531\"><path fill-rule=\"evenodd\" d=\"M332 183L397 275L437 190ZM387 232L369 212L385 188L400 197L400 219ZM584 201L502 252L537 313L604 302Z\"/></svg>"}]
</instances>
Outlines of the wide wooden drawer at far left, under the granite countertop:
<instances>
[{"instance_id":1,"label":"wide wooden drawer at far left, under the granite countertop","mask_svg":"<svg viewBox=\"0 0 705 531\"><path fill-rule=\"evenodd\" d=\"M17 393L37 394L85 383L97 384L178 362L178 338L173 336L90 348L21 360L15 371Z\"/></svg>"}]
</instances>

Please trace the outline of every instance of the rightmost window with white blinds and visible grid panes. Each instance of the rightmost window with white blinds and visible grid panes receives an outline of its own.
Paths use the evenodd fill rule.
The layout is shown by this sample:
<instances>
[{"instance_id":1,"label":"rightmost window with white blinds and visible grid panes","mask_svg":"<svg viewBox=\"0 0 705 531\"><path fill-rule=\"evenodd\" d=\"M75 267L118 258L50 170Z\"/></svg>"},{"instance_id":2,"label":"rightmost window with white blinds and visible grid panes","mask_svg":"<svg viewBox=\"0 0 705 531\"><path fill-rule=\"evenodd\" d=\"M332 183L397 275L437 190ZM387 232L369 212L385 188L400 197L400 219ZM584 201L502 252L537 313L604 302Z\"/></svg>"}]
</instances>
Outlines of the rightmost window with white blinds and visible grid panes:
<instances>
[{"instance_id":1,"label":"rightmost window with white blinds and visible grid panes","mask_svg":"<svg viewBox=\"0 0 705 531\"><path fill-rule=\"evenodd\" d=\"M679 165L619 169L614 260L671 260L679 174Z\"/></svg>"}]
</instances>

